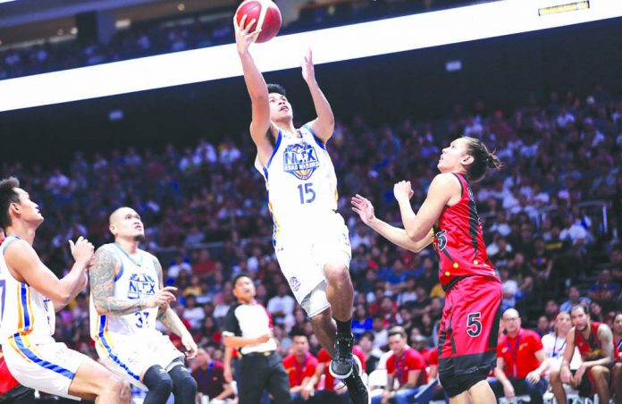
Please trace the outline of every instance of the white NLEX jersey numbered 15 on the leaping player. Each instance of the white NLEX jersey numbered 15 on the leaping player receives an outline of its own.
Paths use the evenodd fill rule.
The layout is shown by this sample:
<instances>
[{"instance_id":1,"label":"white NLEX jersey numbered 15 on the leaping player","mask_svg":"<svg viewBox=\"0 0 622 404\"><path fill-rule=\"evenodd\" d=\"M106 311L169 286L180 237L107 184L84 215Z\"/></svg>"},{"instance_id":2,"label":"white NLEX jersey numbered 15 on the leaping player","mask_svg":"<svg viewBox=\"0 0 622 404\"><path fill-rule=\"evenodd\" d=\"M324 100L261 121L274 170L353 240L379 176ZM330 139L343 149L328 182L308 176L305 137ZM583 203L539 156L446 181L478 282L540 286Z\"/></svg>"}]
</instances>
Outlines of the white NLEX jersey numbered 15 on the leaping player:
<instances>
[{"instance_id":1,"label":"white NLEX jersey numbered 15 on the leaping player","mask_svg":"<svg viewBox=\"0 0 622 404\"><path fill-rule=\"evenodd\" d=\"M273 243L286 231L304 236L337 210L337 176L331 156L307 125L296 133L279 130L273 155L256 169L264 176L273 216Z\"/></svg>"}]
</instances>

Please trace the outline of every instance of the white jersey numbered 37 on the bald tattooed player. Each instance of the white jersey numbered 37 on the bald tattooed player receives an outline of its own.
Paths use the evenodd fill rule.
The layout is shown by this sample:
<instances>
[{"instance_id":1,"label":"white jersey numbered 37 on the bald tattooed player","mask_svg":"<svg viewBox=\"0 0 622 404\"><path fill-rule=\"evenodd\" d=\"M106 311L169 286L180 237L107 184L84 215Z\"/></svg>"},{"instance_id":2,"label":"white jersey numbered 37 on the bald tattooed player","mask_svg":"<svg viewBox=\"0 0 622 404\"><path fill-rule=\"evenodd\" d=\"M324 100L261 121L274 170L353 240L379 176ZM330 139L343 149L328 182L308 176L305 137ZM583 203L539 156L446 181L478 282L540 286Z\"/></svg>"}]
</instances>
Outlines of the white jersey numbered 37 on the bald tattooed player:
<instances>
[{"instance_id":1,"label":"white jersey numbered 37 on the bald tattooed player","mask_svg":"<svg viewBox=\"0 0 622 404\"><path fill-rule=\"evenodd\" d=\"M115 298L145 299L159 289L159 276L155 270L154 260L147 252L139 249L139 260L135 261L116 243L105 244L101 248L107 248L121 261L119 274L114 278ZM133 335L155 330L157 307L145 308L125 316L100 316L95 309L92 295L89 306L90 333L94 340L105 332Z\"/></svg>"}]
</instances>

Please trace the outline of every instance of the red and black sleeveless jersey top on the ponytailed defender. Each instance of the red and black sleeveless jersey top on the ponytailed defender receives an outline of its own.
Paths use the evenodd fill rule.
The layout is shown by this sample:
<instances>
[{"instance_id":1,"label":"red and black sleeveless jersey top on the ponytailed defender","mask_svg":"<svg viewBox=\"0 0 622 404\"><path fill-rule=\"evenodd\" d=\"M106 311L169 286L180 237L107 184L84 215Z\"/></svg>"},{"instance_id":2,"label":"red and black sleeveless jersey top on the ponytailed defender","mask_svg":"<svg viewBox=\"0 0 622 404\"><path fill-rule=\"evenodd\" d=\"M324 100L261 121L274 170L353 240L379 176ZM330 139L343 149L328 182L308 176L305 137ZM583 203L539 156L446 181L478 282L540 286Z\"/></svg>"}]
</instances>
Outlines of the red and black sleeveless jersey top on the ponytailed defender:
<instances>
[{"instance_id":1,"label":"red and black sleeveless jersey top on the ponytailed defender","mask_svg":"<svg viewBox=\"0 0 622 404\"><path fill-rule=\"evenodd\" d=\"M462 197L453 206L445 206L434 223L434 249L439 255L439 279L443 289L464 276L497 277L483 243L482 223L477 215L473 191L465 177L453 173L462 187Z\"/></svg>"}]
</instances>

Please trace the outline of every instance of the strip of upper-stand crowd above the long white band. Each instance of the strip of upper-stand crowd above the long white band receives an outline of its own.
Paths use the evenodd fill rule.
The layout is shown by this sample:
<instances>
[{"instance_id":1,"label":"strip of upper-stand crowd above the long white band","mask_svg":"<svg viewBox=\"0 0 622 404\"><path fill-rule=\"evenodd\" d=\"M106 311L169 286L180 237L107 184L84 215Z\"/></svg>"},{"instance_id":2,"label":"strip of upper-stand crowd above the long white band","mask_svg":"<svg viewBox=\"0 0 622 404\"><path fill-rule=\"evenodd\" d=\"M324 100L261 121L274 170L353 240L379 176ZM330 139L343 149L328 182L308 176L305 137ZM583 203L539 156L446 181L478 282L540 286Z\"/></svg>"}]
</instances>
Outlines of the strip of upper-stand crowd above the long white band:
<instances>
[{"instance_id":1,"label":"strip of upper-stand crowd above the long white band","mask_svg":"<svg viewBox=\"0 0 622 404\"><path fill-rule=\"evenodd\" d=\"M282 28L282 34L468 3L466 0L310 1L301 7L298 20ZM119 29L107 42L42 39L35 46L6 46L4 50L0 48L0 80L233 43L234 11L235 7L225 7L208 14L143 22Z\"/></svg>"}]
</instances>

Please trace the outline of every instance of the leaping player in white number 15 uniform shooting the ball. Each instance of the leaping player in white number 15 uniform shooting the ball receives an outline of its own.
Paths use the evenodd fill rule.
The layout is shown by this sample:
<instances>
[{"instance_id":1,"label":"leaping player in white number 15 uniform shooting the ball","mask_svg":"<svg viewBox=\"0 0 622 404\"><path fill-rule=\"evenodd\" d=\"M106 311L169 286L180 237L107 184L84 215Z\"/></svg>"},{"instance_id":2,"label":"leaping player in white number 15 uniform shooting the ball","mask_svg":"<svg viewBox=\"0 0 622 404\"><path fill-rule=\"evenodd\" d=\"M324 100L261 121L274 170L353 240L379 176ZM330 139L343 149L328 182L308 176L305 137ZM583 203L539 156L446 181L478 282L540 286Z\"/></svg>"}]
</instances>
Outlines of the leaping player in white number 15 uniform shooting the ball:
<instances>
[{"instance_id":1,"label":"leaping player in white number 15 uniform shooting the ball","mask_svg":"<svg viewBox=\"0 0 622 404\"><path fill-rule=\"evenodd\" d=\"M349 233L336 212L337 177L326 150L334 127L331 105L317 85L309 50L302 77L317 118L296 129L285 90L265 84L248 51L259 34L258 29L250 32L255 21L243 16L240 25L233 23L252 102L250 136L257 148L256 168L264 176L273 216L276 257L298 303L311 317L317 339L331 355L332 375L346 382L355 403L367 402L352 359Z\"/></svg>"}]
</instances>

